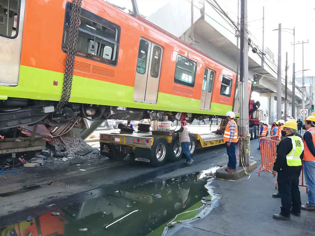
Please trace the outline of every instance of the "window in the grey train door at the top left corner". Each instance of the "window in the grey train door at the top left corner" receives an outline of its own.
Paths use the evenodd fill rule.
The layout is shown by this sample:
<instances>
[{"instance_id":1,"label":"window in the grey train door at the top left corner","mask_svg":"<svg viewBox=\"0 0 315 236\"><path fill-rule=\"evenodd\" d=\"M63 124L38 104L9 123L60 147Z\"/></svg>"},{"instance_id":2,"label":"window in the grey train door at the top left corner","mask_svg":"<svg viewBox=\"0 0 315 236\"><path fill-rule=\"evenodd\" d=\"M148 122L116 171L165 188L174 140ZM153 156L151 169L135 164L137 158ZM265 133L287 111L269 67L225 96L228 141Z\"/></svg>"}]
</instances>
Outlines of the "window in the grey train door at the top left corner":
<instances>
[{"instance_id":1,"label":"window in the grey train door at the top left corner","mask_svg":"<svg viewBox=\"0 0 315 236\"><path fill-rule=\"evenodd\" d=\"M19 32L21 1L2 1L0 6L0 36L16 38Z\"/></svg>"}]
</instances>

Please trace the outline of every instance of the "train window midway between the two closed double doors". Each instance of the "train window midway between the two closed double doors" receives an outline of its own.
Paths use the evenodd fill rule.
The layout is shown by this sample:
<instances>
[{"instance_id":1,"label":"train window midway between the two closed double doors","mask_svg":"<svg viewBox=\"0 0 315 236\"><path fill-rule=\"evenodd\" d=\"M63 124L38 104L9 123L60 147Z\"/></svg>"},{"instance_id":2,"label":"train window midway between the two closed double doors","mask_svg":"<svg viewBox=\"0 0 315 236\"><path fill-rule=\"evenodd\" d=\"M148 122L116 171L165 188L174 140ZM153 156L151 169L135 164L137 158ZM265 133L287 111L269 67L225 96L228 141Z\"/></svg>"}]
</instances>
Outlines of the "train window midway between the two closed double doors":
<instances>
[{"instance_id":1,"label":"train window midway between the two closed double doors","mask_svg":"<svg viewBox=\"0 0 315 236\"><path fill-rule=\"evenodd\" d=\"M186 86L194 87L196 77L197 63L177 55L175 68L175 83L180 83Z\"/></svg>"}]
</instances>

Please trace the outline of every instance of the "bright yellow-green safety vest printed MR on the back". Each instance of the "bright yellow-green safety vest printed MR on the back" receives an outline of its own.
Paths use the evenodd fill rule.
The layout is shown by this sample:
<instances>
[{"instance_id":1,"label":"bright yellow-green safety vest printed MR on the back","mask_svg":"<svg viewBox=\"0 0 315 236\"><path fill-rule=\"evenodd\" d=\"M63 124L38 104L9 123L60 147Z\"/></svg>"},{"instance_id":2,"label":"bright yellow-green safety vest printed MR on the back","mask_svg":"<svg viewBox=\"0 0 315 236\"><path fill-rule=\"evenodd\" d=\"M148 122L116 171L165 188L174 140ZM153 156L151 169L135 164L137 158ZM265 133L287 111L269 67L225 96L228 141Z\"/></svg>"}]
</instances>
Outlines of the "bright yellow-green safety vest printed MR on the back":
<instances>
[{"instance_id":1,"label":"bright yellow-green safety vest printed MR on the back","mask_svg":"<svg viewBox=\"0 0 315 236\"><path fill-rule=\"evenodd\" d=\"M285 138L289 138L292 141L292 150L291 152L287 155L287 164L288 166L301 166L302 161L301 161L301 154L304 150L304 143L302 139L299 136L288 136L284 137L282 140L280 140L277 144L277 147L281 141L283 141ZM277 151L276 147L276 151Z\"/></svg>"}]
</instances>

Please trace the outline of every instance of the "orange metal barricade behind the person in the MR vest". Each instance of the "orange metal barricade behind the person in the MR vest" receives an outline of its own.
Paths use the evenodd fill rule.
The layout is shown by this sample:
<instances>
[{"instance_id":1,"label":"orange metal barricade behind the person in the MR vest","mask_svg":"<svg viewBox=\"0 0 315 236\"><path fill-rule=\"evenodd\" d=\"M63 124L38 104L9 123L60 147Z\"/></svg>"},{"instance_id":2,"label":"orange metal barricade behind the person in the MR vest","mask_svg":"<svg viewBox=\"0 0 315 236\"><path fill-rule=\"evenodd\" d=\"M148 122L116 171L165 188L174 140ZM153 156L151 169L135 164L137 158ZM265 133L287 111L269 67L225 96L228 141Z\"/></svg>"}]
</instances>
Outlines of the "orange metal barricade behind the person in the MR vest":
<instances>
[{"instance_id":1,"label":"orange metal barricade behind the person in the MR vest","mask_svg":"<svg viewBox=\"0 0 315 236\"><path fill-rule=\"evenodd\" d=\"M272 173L273 163L276 160L276 146L278 143L278 136L267 136L259 139L261 152L261 167L258 171L260 176L261 171L268 171Z\"/></svg>"}]
</instances>

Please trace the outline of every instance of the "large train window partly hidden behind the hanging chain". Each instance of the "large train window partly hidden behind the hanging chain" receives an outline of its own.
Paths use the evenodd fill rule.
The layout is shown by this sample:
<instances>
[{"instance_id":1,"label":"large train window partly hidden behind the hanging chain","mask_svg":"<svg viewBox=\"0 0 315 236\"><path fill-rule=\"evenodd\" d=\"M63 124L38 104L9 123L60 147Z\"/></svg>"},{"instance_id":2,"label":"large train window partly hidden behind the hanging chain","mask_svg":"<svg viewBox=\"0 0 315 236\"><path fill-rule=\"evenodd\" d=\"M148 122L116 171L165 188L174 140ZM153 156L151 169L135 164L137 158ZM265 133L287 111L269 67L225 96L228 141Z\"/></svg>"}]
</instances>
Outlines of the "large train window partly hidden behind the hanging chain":
<instances>
[{"instance_id":1,"label":"large train window partly hidden behind the hanging chain","mask_svg":"<svg viewBox=\"0 0 315 236\"><path fill-rule=\"evenodd\" d=\"M72 3L66 4L62 49L67 51ZM81 9L77 55L117 65L120 27L85 9Z\"/></svg>"}]
</instances>

